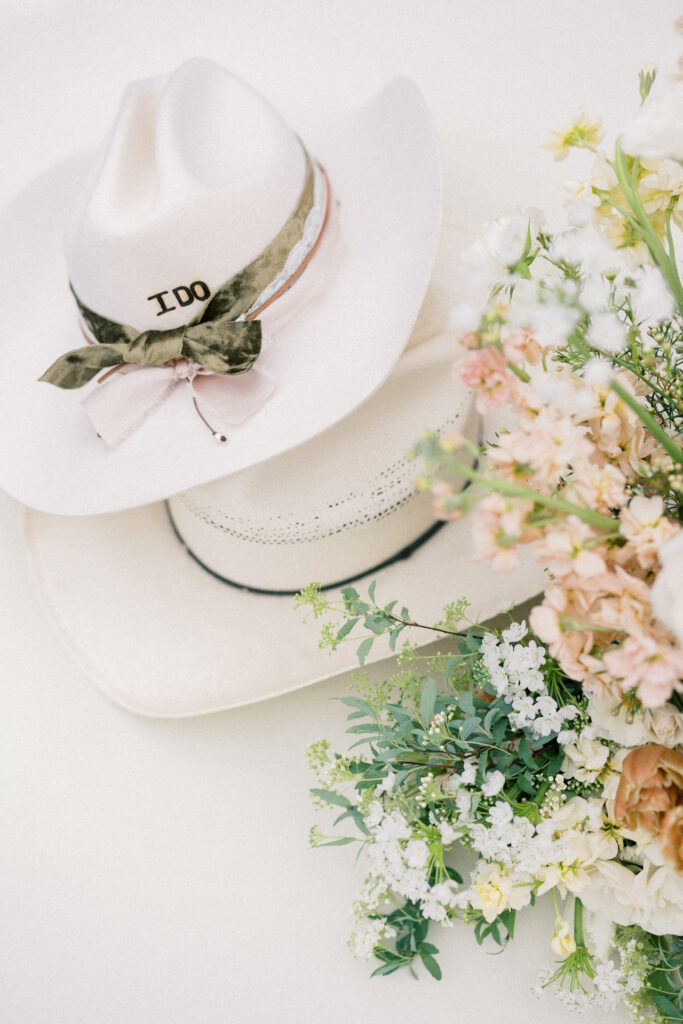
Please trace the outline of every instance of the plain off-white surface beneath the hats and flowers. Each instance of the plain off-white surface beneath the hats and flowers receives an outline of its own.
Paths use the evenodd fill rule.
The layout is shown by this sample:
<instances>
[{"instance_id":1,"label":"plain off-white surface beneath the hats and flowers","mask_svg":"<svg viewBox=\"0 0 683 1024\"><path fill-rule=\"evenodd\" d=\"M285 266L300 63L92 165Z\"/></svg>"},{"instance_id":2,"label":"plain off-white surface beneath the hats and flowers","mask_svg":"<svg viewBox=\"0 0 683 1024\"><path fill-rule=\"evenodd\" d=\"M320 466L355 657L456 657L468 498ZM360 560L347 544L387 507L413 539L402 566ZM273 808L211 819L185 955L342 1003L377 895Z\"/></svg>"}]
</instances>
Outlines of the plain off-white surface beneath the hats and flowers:
<instances>
[{"instance_id":1,"label":"plain off-white surface beneath the hats and flowers","mask_svg":"<svg viewBox=\"0 0 683 1024\"><path fill-rule=\"evenodd\" d=\"M511 202L548 206L573 173L539 151L548 128L580 104L617 127L641 65L673 70L679 13L672 0L5 0L0 201L98 141L129 79L201 54L285 112L308 90L334 112L412 75L441 134L456 216L474 225ZM48 634L18 520L3 499L2 1024L569 1020L527 995L548 956L548 906L522 915L496 958L464 928L435 932L439 985L369 981L344 945L361 871L348 849L306 842L303 751L319 735L341 740L330 698L346 681L206 719L135 718Z\"/></svg>"}]
</instances>

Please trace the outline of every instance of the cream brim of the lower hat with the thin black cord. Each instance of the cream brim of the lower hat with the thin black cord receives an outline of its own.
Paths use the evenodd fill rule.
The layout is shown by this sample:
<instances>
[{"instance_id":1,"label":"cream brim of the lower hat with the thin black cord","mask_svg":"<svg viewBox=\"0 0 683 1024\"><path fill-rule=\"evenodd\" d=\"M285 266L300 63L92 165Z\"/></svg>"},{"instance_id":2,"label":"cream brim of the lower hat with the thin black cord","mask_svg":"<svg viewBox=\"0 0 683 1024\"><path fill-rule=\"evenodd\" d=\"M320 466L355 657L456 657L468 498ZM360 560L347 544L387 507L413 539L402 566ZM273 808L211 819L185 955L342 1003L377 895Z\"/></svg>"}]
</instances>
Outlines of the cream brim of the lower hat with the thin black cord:
<instances>
[{"instance_id":1,"label":"cream brim of the lower hat with the thin black cord","mask_svg":"<svg viewBox=\"0 0 683 1024\"><path fill-rule=\"evenodd\" d=\"M377 600L408 604L416 621L441 617L461 596L476 621L544 586L530 552L514 572L493 575L471 558L471 521L447 523L378 580ZM162 718L208 714L300 689L357 666L357 642L330 653L321 623L291 597L253 594L201 568L178 542L164 503L75 518L26 511L26 539L41 603L62 644L117 703ZM332 598L339 597L335 591ZM434 637L410 631L424 644ZM368 662L389 655L377 641Z\"/></svg>"}]
</instances>

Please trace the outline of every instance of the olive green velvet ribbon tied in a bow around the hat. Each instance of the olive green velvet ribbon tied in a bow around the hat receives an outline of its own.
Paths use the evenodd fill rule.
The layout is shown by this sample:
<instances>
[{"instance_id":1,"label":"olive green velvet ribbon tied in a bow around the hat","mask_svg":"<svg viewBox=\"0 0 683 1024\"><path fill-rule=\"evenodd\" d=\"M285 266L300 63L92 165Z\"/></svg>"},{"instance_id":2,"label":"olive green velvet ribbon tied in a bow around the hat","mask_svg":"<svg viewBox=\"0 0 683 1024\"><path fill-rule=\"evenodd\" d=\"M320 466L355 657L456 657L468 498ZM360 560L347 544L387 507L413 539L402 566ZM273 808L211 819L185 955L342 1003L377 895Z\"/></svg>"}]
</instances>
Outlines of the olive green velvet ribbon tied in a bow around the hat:
<instances>
[{"instance_id":1,"label":"olive green velvet ribbon tied in a bow around the hat","mask_svg":"<svg viewBox=\"0 0 683 1024\"><path fill-rule=\"evenodd\" d=\"M109 367L137 362L161 367L170 359L190 359L213 374L243 374L261 351L261 325L239 321L281 272L300 241L313 206L313 165L306 157L306 178L296 209L264 251L214 293L200 317L169 331L135 331L84 306L74 292L83 319L97 340L65 352L40 378L61 388L78 388ZM72 292L74 289L72 288Z\"/></svg>"}]
</instances>

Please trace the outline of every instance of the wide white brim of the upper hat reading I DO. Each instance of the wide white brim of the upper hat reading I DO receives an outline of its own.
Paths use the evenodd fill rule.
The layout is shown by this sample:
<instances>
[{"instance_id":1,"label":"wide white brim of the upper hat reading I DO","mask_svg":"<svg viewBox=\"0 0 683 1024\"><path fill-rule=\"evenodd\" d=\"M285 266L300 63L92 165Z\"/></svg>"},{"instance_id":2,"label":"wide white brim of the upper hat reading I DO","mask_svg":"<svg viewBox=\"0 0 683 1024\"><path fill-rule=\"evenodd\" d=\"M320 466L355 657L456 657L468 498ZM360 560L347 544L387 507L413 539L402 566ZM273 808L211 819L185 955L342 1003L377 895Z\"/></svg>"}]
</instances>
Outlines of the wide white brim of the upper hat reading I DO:
<instances>
[{"instance_id":1,"label":"wide white brim of the upper hat reading I DO","mask_svg":"<svg viewBox=\"0 0 683 1024\"><path fill-rule=\"evenodd\" d=\"M309 112L295 127L340 202L343 256L324 297L279 331L275 391L227 444L212 442L177 388L133 436L108 450L78 393L38 382L75 347L61 234L83 159L52 169L4 211L0 253L11 303L0 327L0 486L12 497L79 516L156 502L301 444L381 386L433 264L441 210L433 125L417 86L397 79L334 124Z\"/></svg>"}]
</instances>

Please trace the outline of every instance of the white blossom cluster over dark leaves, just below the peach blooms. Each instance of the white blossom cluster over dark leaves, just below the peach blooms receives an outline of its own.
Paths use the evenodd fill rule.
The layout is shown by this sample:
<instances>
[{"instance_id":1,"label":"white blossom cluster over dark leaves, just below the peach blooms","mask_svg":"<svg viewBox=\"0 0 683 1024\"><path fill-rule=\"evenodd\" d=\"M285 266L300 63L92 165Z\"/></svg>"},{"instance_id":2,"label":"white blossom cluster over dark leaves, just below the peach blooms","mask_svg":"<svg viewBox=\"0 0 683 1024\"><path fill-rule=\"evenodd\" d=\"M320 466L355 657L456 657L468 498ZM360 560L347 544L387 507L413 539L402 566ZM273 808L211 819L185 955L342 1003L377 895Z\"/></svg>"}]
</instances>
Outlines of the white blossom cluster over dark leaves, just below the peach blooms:
<instances>
[{"instance_id":1,"label":"white blossom cluster over dark leaves, just below the peach blooms","mask_svg":"<svg viewBox=\"0 0 683 1024\"><path fill-rule=\"evenodd\" d=\"M496 634L486 633L481 643L481 659L488 671L490 682L499 697L511 706L510 724L515 729L526 730L536 739L545 739L556 733L562 742L564 734L573 740L573 730L565 730L580 714L574 705L560 708L547 690L541 667L546 660L545 647L535 640L526 644L518 641L526 636L526 624L513 623L499 640Z\"/></svg>"}]
</instances>

